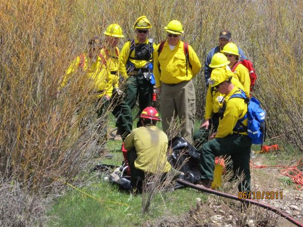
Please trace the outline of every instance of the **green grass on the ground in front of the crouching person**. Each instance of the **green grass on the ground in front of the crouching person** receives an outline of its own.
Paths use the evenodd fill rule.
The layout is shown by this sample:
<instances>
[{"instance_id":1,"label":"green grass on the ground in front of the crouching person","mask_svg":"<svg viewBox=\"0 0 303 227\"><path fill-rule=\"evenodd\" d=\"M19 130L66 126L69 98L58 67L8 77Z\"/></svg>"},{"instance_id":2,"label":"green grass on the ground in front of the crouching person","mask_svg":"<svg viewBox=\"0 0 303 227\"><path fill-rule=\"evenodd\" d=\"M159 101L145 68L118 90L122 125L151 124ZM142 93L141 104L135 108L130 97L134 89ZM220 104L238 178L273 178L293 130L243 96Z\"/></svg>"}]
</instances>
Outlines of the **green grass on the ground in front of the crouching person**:
<instances>
[{"instance_id":1,"label":"green grass on the ground in front of the crouching person","mask_svg":"<svg viewBox=\"0 0 303 227\"><path fill-rule=\"evenodd\" d=\"M137 113L134 110L133 113ZM114 119L110 118L113 127ZM160 127L161 124L158 125ZM200 126L196 122L195 129ZM135 123L134 123L135 127ZM97 163L120 165L123 160L120 151L121 141L108 141L107 150L113 155L112 159L96 159ZM206 195L191 188L178 189L174 192L161 192L152 201L148 214L141 213L141 195L131 195L122 191L115 184L103 180L104 173L85 172L89 182L85 187L71 188L58 198L48 212L54 217L48 226L138 226L146 221L155 221L162 216L184 214L195 206L196 197L203 200ZM88 196L92 195L94 198ZM108 202L105 202L108 201ZM123 203L123 204L122 204Z\"/></svg>"}]
</instances>

